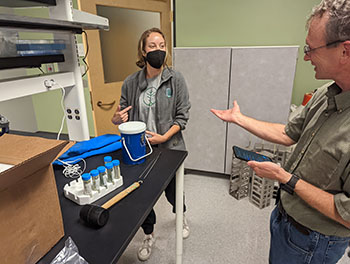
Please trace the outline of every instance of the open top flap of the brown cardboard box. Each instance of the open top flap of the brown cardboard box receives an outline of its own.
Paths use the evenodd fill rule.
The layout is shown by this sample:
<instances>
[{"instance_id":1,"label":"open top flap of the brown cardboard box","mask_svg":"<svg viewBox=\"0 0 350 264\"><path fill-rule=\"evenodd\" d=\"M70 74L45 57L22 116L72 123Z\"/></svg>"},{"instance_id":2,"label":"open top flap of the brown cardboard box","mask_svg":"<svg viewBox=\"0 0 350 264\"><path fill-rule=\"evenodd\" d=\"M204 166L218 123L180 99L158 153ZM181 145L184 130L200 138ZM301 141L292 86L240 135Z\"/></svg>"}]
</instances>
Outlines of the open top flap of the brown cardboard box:
<instances>
[{"instance_id":1,"label":"open top flap of the brown cardboard box","mask_svg":"<svg viewBox=\"0 0 350 264\"><path fill-rule=\"evenodd\" d=\"M68 141L4 134L0 137L0 162L17 160L0 173L0 191L48 166Z\"/></svg>"}]
</instances>

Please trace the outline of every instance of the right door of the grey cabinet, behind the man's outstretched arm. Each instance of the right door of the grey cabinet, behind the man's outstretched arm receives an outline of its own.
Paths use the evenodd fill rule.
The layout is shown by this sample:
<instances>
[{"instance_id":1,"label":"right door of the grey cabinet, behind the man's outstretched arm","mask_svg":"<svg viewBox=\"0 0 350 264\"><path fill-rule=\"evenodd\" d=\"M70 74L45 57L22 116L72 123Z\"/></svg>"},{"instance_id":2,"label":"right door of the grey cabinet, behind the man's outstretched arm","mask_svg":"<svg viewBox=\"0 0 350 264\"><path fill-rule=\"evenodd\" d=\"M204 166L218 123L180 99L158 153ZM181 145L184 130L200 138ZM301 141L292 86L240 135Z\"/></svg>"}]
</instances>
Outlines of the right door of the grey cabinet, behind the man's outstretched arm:
<instances>
[{"instance_id":1,"label":"right door of the grey cabinet, behind the man's outstretched arm","mask_svg":"<svg viewBox=\"0 0 350 264\"><path fill-rule=\"evenodd\" d=\"M237 100L243 114L285 124L293 91L298 46L232 48L230 107ZM261 142L242 128L229 124L226 173L231 171L232 146Z\"/></svg>"}]
</instances>

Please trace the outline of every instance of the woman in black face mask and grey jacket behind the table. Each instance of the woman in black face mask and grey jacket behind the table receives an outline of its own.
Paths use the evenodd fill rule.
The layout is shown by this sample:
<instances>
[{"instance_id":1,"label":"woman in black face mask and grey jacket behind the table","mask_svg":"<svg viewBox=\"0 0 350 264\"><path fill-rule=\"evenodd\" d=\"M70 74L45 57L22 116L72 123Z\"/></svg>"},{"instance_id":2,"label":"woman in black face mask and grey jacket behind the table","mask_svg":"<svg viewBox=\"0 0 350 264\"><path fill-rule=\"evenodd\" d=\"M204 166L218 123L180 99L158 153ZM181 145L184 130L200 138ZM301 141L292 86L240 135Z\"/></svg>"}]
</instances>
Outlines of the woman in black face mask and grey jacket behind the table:
<instances>
[{"instance_id":1,"label":"woman in black face mask and grey jacket behind the table","mask_svg":"<svg viewBox=\"0 0 350 264\"><path fill-rule=\"evenodd\" d=\"M146 30L138 43L138 61L142 70L128 76L122 86L120 105L112 122L119 125L127 121L143 121L146 134L154 146L185 150L181 130L189 118L190 102L183 76L166 66L166 40L158 28ZM175 177L165 189L165 195L175 213ZM184 205L184 212L186 206ZM154 244L156 215L150 212L142 229L145 233L138 258L149 259ZM189 236L184 216L183 237Z\"/></svg>"}]
</instances>

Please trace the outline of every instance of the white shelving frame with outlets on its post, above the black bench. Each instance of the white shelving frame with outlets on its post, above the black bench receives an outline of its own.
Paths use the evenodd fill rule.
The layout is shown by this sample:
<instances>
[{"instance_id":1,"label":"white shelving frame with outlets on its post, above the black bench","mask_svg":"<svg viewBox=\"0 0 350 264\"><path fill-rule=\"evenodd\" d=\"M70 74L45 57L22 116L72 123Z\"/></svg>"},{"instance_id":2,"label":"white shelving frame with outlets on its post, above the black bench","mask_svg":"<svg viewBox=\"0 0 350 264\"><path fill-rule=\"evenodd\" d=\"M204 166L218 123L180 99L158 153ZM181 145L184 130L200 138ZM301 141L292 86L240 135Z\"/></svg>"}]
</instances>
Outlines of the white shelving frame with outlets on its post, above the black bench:
<instances>
[{"instance_id":1,"label":"white shelving frame with outlets on its post, above the black bench","mask_svg":"<svg viewBox=\"0 0 350 264\"><path fill-rule=\"evenodd\" d=\"M73 9L71 0L5 1L4 5L29 6L45 1L50 5L49 19L1 14L0 31L11 29L53 33L54 39L66 41L67 47L63 56L0 58L0 69L38 67L42 63L61 62L62 58L64 62L59 63L57 74L0 81L0 102L63 87L69 138L77 141L87 140L90 136L75 34L81 34L83 29L108 29L108 19Z\"/></svg>"}]
</instances>

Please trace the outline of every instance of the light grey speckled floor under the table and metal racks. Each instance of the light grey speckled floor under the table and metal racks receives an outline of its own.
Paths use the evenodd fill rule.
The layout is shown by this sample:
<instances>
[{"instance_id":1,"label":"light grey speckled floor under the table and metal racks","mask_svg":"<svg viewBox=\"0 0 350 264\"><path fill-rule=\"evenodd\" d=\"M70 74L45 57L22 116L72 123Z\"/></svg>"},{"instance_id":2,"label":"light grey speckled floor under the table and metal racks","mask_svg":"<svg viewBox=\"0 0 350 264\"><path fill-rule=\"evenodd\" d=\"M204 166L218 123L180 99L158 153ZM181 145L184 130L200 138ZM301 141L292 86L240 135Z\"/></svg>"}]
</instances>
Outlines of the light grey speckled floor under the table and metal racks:
<instances>
[{"instance_id":1,"label":"light grey speckled floor under the table and metal racks","mask_svg":"<svg viewBox=\"0 0 350 264\"><path fill-rule=\"evenodd\" d=\"M266 264L269 250L269 216L273 206L259 209L248 198L236 200L228 193L229 180L185 175L190 237L183 243L183 263ZM148 264L175 263L175 215L164 194L155 206L156 242ZM140 229L118 264L142 263L137 259ZM349 264L344 256L339 264Z\"/></svg>"}]
</instances>

